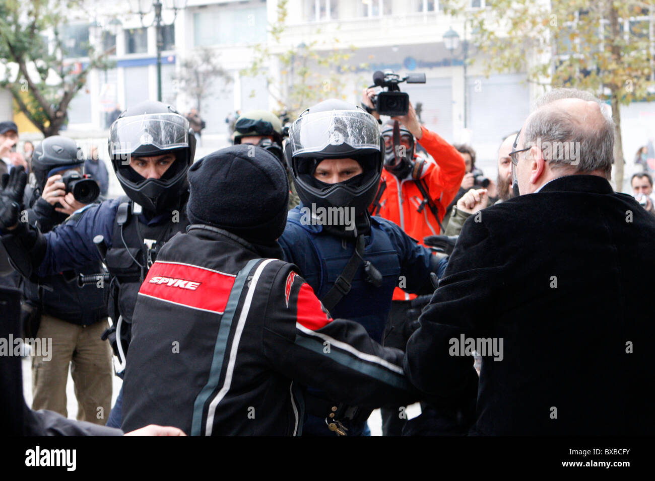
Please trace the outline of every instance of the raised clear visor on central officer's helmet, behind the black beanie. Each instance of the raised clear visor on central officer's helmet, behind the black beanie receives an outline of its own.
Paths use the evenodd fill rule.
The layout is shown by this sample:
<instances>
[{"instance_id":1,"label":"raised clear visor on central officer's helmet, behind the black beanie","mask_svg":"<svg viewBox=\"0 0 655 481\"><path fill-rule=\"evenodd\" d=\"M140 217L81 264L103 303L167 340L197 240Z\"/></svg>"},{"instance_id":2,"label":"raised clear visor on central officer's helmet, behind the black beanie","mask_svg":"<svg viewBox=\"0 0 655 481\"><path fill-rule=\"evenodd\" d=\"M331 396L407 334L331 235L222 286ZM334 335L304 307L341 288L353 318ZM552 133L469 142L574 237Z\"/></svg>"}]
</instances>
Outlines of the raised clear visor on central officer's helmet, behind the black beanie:
<instances>
[{"instance_id":1,"label":"raised clear visor on central officer's helmet, behind the black beanie","mask_svg":"<svg viewBox=\"0 0 655 481\"><path fill-rule=\"evenodd\" d=\"M380 150L380 131L372 115L361 111L333 110L308 113L289 129L291 154L320 152L328 145Z\"/></svg>"}]
</instances>

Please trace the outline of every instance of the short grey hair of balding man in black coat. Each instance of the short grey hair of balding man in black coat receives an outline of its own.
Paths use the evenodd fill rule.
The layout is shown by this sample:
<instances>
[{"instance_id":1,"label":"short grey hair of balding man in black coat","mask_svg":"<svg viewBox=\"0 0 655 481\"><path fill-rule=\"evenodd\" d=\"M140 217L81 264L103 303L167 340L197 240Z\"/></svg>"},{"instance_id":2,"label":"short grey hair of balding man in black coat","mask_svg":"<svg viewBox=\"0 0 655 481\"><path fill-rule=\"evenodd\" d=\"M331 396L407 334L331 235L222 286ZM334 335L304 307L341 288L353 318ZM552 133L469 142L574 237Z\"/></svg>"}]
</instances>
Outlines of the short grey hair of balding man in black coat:
<instances>
[{"instance_id":1,"label":"short grey hair of balding man in black coat","mask_svg":"<svg viewBox=\"0 0 655 481\"><path fill-rule=\"evenodd\" d=\"M550 105L555 100L577 98L598 103L601 118L571 115ZM576 173L600 170L610 179L614 159L614 121L603 104L582 90L551 90L537 101L538 109L525 126L525 146L538 145L552 168ZM547 150L546 150L547 149Z\"/></svg>"}]
</instances>

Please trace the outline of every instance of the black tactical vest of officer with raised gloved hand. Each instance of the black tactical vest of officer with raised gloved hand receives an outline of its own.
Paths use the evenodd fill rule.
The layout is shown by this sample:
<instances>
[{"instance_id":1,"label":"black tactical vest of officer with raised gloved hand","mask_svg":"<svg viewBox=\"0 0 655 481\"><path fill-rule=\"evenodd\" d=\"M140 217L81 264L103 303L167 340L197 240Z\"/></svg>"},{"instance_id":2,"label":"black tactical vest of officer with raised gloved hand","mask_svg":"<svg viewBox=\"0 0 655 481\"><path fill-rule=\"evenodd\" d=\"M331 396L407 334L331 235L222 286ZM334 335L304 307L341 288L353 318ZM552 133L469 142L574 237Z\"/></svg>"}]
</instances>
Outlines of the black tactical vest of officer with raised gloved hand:
<instances>
[{"instance_id":1,"label":"black tactical vest of officer with raised gloved hand","mask_svg":"<svg viewBox=\"0 0 655 481\"><path fill-rule=\"evenodd\" d=\"M109 316L114 323L119 315L123 321L132 322L136 296L157 253L166 241L178 232L185 232L189 225L185 206L173 211L166 221L149 226L139 221L135 205L138 204L127 197L119 204L111 248L105 257L111 276Z\"/></svg>"}]
</instances>

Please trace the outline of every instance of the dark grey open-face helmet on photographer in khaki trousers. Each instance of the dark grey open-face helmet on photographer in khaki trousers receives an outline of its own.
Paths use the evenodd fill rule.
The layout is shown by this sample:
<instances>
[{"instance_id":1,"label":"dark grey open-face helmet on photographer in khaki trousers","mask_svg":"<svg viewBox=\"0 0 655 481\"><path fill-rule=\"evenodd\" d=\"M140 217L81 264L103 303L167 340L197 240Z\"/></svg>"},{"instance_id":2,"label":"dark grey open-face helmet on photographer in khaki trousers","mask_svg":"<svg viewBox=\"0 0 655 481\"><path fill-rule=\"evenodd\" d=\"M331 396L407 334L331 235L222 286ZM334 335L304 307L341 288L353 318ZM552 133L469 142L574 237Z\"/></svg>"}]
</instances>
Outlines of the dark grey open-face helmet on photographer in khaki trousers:
<instances>
[{"instance_id":1,"label":"dark grey open-face helmet on photographer in khaki trousers","mask_svg":"<svg viewBox=\"0 0 655 481\"><path fill-rule=\"evenodd\" d=\"M84 157L77 142L61 135L46 137L35 147L31 168L36 179L36 187L43 192L49 177L67 169L82 168Z\"/></svg>"}]
</instances>

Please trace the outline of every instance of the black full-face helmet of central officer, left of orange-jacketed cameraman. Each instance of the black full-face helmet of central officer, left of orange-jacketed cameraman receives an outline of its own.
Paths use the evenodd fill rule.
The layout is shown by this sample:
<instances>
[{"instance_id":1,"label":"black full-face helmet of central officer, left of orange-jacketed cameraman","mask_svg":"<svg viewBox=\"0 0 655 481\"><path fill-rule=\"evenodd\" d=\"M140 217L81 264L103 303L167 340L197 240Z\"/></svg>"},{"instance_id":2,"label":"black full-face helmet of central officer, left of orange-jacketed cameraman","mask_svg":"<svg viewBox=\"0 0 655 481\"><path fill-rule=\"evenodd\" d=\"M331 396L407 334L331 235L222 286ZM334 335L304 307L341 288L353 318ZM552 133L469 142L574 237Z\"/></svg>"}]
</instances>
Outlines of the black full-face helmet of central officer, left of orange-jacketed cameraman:
<instances>
[{"instance_id":1,"label":"black full-face helmet of central officer, left of orange-jacketed cameraman","mask_svg":"<svg viewBox=\"0 0 655 481\"><path fill-rule=\"evenodd\" d=\"M291 124L284 152L303 204L354 207L356 216L367 212L382 174L382 145L377 120L352 103L329 99L301 113ZM352 158L364 173L324 184L314 179L314 170L326 158Z\"/></svg>"}]
</instances>

